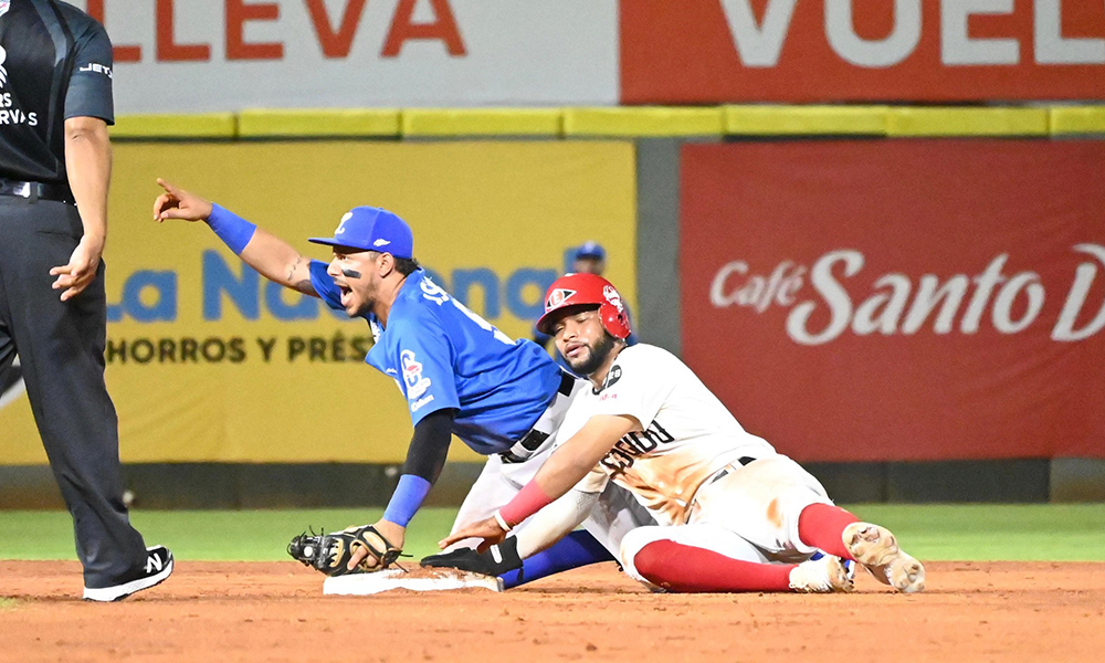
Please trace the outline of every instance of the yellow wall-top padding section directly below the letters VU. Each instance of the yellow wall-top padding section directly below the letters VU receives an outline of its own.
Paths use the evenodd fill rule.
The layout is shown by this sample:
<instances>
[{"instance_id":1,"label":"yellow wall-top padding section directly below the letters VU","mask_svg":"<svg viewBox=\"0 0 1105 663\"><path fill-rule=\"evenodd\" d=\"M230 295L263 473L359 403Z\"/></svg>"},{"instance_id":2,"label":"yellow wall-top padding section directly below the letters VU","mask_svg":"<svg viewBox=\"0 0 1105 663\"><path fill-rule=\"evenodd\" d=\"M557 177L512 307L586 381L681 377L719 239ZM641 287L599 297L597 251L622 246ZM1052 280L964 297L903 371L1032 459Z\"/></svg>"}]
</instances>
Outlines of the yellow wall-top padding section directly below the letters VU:
<instances>
[{"instance_id":1,"label":"yellow wall-top padding section directly below the letters VU","mask_svg":"<svg viewBox=\"0 0 1105 663\"><path fill-rule=\"evenodd\" d=\"M739 136L885 136L886 112L886 106L726 106L725 133Z\"/></svg>"}]
</instances>

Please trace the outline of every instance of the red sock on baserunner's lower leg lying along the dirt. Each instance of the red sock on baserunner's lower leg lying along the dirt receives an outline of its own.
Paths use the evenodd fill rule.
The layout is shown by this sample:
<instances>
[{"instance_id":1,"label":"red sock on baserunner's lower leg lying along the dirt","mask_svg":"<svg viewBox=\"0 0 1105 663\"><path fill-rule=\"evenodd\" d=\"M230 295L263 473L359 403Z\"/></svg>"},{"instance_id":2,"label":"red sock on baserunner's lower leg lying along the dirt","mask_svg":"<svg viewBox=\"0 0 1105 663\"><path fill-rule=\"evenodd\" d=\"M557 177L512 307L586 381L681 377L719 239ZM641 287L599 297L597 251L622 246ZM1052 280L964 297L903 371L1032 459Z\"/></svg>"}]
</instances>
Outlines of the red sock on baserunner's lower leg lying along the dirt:
<instances>
[{"instance_id":1,"label":"red sock on baserunner's lower leg lying along the dirt","mask_svg":"<svg viewBox=\"0 0 1105 663\"><path fill-rule=\"evenodd\" d=\"M741 561L705 548L661 539L645 545L633 566L670 591L787 591L794 565Z\"/></svg>"}]
</instances>

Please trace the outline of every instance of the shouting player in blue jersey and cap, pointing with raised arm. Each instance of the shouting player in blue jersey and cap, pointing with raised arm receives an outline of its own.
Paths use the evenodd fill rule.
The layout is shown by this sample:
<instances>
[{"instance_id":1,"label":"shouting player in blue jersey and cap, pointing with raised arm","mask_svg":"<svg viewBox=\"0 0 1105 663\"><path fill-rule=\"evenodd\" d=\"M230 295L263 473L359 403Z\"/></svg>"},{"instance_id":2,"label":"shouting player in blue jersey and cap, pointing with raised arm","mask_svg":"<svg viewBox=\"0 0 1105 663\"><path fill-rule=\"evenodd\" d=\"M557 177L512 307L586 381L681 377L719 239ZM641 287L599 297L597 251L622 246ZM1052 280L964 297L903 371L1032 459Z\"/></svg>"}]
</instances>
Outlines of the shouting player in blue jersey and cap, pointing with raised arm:
<instances>
[{"instance_id":1,"label":"shouting player in blue jersey and cap, pointing with raised arm","mask_svg":"<svg viewBox=\"0 0 1105 663\"><path fill-rule=\"evenodd\" d=\"M441 473L451 434L490 456L454 530L494 513L536 474L568 403L585 383L561 371L536 344L507 337L434 284L414 260L413 235L402 219L378 208L350 210L333 238L309 240L333 249L333 260L325 263L304 257L218 204L158 183L166 192L154 204L156 220L206 221L266 278L369 323L376 344L365 361L396 379L414 424L399 484L383 517L371 526L393 552L391 559ZM579 533L565 539L559 549L527 560L524 576L512 573L507 585L612 559L621 536L649 520L628 494L606 494L585 523L593 537ZM345 570L386 565L383 551L375 550L379 547L372 537L349 546Z\"/></svg>"}]
</instances>

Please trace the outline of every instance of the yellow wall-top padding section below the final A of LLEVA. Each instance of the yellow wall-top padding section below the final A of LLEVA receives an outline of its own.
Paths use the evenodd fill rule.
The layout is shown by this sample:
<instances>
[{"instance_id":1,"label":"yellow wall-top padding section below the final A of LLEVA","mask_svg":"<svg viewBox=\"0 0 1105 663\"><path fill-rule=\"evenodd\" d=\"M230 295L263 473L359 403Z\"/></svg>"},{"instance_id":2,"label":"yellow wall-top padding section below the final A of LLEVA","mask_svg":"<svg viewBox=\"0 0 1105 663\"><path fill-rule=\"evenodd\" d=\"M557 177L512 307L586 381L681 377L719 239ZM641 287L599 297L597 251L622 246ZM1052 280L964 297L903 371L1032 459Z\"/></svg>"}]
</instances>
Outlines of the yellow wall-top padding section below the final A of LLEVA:
<instances>
[{"instance_id":1,"label":"yellow wall-top padding section below the final A of LLEVA","mask_svg":"<svg viewBox=\"0 0 1105 663\"><path fill-rule=\"evenodd\" d=\"M402 113L403 136L560 135L559 108L411 108Z\"/></svg>"}]
</instances>

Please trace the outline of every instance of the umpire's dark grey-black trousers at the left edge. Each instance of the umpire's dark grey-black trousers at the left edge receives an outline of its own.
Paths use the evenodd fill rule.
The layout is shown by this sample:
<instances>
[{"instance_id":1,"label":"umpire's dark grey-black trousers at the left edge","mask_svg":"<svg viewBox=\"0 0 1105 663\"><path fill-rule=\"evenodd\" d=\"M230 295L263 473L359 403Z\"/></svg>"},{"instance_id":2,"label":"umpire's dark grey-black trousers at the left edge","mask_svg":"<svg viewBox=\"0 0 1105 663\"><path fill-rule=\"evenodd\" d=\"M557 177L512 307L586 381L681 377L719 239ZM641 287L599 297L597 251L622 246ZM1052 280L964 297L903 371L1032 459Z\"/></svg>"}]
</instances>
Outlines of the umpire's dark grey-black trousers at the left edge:
<instances>
[{"instance_id":1,"label":"umpire's dark grey-black trousers at the left edge","mask_svg":"<svg viewBox=\"0 0 1105 663\"><path fill-rule=\"evenodd\" d=\"M99 588L134 579L146 548L123 505L118 418L104 383L104 265L69 302L50 287L50 269L69 264L82 234L74 206L0 196L0 383L18 354L85 587Z\"/></svg>"}]
</instances>

